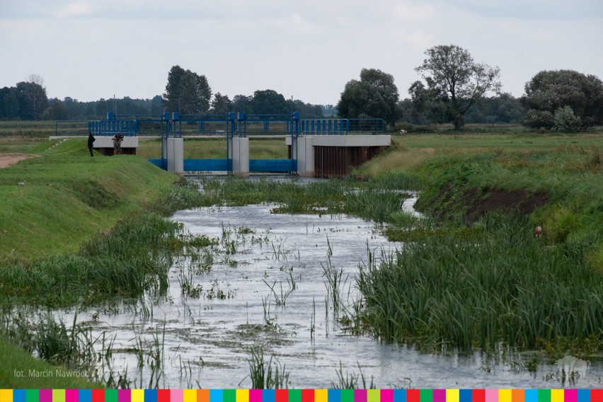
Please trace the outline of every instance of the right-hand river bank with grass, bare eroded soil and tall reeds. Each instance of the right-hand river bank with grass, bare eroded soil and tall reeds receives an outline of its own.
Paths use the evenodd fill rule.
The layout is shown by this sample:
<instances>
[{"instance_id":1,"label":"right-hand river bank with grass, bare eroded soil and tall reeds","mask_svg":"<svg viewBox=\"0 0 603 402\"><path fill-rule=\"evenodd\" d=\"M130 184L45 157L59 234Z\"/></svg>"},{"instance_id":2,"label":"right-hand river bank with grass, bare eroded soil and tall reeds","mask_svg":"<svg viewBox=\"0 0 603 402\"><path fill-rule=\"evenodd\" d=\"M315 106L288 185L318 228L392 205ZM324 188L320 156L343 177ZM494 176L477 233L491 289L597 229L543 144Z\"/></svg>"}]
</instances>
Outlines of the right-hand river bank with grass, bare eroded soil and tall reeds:
<instances>
[{"instance_id":1,"label":"right-hand river bank with grass, bare eroded soil and tall reeds","mask_svg":"<svg viewBox=\"0 0 603 402\"><path fill-rule=\"evenodd\" d=\"M359 173L415 176L432 219L389 219L406 244L364 269L359 328L431 348L600 353L602 146L597 133L397 138Z\"/></svg>"}]
</instances>

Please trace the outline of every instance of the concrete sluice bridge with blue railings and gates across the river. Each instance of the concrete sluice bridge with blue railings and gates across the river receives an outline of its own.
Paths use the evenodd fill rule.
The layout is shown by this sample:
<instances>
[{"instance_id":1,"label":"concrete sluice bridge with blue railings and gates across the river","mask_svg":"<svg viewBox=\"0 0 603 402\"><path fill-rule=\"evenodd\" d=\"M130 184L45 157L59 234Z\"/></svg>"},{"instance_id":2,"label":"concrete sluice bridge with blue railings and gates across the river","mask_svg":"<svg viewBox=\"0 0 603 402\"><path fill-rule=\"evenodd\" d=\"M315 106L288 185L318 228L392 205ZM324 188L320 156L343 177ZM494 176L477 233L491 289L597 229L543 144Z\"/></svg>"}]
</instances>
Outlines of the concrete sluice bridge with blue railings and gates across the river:
<instances>
[{"instance_id":1,"label":"concrete sluice bridge with blue railings and gates across the river","mask_svg":"<svg viewBox=\"0 0 603 402\"><path fill-rule=\"evenodd\" d=\"M57 122L57 135L64 127ZM292 173L299 176L346 176L379 150L390 145L383 135L381 119L302 119L298 112L285 115L115 115L106 120L88 121L88 130L97 141L94 147L113 155L111 137L124 135L122 150L135 154L139 138L160 137L161 158L151 163L174 173L224 172L246 177L249 173ZM185 139L225 138L221 159L184 159ZM249 141L280 137L287 144L283 159L249 159Z\"/></svg>"}]
</instances>

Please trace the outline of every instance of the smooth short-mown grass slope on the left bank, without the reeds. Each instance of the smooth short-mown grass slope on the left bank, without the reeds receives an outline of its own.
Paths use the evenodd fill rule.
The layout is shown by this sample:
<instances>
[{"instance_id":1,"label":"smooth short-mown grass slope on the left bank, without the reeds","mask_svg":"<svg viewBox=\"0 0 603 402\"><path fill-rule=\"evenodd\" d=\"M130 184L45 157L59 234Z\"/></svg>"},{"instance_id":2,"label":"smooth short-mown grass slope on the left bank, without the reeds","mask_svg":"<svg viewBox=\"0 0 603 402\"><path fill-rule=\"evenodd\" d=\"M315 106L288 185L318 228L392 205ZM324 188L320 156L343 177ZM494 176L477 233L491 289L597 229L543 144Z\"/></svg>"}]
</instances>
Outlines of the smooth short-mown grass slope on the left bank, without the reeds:
<instances>
[{"instance_id":1,"label":"smooth short-mown grass slope on the left bank, without the reeds","mask_svg":"<svg viewBox=\"0 0 603 402\"><path fill-rule=\"evenodd\" d=\"M31 153L0 176L0 256L27 260L76 251L93 234L150 205L177 180L137 156L87 154L86 139Z\"/></svg>"}]
</instances>

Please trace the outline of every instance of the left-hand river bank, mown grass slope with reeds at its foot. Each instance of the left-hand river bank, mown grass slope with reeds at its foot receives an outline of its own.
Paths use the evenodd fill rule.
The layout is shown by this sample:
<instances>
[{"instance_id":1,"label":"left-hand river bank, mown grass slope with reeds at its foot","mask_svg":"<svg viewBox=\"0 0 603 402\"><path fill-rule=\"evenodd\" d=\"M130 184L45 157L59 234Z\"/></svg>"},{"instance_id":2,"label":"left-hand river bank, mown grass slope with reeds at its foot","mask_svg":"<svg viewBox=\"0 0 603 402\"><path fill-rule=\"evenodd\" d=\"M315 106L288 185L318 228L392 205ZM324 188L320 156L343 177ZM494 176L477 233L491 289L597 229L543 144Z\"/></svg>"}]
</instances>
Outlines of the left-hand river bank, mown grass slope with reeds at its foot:
<instances>
[{"instance_id":1,"label":"left-hand river bank, mown grass slope with reeds at its foot","mask_svg":"<svg viewBox=\"0 0 603 402\"><path fill-rule=\"evenodd\" d=\"M140 258L142 253L130 250L132 242L125 234L110 229L124 218L144 215L178 178L136 156L91 158L86 139L69 139L52 147L54 144L41 142L30 147L28 151L38 157L4 168L0 174L0 288L4 301L56 305L95 299L103 292L105 297L135 293L135 285L129 283L144 284L139 270L141 264L152 267L151 258ZM169 205L155 209L161 212ZM149 240L149 231L140 233L143 243ZM138 243L140 250L141 241ZM115 250L98 249L102 247ZM120 247L128 253L121 253L121 263L109 264L108 254L125 251ZM116 268L113 274L108 272L110 266ZM130 268L134 280L128 282L122 268ZM142 270L142 275L146 272L148 269ZM112 284L112 277L118 282ZM108 285L112 285L109 290L99 287ZM98 386L77 375L62 375L64 368L35 360L5 339L0 340L0 354L6 363L0 371L1 387ZM29 370L53 375L33 377ZM23 377L15 374L22 371Z\"/></svg>"}]
</instances>

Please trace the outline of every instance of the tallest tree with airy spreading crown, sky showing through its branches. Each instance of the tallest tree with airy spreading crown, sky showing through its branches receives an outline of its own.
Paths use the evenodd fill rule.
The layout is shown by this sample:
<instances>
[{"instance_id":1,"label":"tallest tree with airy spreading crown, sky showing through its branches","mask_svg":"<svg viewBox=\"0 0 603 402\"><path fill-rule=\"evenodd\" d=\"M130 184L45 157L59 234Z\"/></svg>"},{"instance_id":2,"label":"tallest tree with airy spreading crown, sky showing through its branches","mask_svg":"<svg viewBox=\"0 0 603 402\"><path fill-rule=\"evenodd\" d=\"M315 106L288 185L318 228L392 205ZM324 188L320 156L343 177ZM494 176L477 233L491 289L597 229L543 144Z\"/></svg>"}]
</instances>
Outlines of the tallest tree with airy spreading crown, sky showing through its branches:
<instances>
[{"instance_id":1,"label":"tallest tree with airy spreading crown, sky showing through its branches","mask_svg":"<svg viewBox=\"0 0 603 402\"><path fill-rule=\"evenodd\" d=\"M425 51L427 59L415 71L427 83L415 81L409 88L418 110L428 110L454 129L464 125L464 115L486 92L500 92L500 69L476 63L456 45L438 45Z\"/></svg>"}]
</instances>

